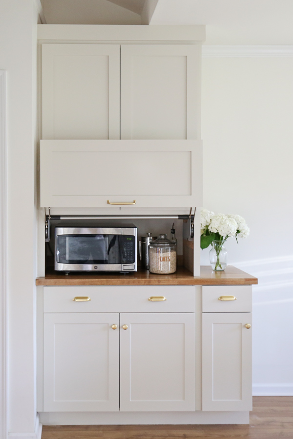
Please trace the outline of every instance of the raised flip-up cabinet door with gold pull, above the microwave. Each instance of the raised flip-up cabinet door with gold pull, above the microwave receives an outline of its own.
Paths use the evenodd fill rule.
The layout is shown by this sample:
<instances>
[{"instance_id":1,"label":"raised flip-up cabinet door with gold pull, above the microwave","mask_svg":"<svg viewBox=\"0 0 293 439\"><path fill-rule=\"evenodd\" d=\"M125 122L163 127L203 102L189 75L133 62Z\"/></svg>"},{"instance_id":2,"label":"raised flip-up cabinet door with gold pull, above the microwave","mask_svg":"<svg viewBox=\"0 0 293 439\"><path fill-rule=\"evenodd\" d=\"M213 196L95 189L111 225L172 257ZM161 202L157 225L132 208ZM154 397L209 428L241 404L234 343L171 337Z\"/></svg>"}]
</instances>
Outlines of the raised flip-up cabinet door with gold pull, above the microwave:
<instances>
[{"instance_id":1,"label":"raised flip-up cabinet door with gold pull, above the microwave","mask_svg":"<svg viewBox=\"0 0 293 439\"><path fill-rule=\"evenodd\" d=\"M41 140L41 207L127 204L200 206L202 142Z\"/></svg>"}]
</instances>

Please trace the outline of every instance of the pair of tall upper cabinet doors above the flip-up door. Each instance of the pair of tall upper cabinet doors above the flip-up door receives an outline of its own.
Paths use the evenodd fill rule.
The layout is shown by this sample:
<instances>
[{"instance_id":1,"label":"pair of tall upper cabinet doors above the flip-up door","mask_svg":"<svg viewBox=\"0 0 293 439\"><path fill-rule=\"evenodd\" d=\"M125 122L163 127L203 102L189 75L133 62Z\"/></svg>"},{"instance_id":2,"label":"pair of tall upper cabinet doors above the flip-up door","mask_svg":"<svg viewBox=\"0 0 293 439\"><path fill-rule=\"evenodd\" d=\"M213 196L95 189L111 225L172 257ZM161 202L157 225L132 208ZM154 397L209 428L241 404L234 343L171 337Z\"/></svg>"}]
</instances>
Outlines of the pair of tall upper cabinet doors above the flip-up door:
<instances>
[{"instance_id":1,"label":"pair of tall upper cabinet doors above the flip-up door","mask_svg":"<svg viewBox=\"0 0 293 439\"><path fill-rule=\"evenodd\" d=\"M42 139L200 139L200 51L42 44Z\"/></svg>"}]
</instances>

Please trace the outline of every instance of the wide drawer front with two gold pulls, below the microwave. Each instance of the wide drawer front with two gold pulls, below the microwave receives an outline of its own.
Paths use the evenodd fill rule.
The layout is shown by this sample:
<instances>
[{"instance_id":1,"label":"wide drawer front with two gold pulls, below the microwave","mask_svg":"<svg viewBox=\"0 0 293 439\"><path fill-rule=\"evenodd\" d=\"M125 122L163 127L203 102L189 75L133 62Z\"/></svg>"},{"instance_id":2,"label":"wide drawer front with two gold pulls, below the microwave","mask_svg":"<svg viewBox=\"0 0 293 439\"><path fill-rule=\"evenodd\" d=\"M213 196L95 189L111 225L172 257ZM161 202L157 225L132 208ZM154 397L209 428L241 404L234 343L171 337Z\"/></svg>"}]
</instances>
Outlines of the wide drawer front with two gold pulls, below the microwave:
<instances>
[{"instance_id":1,"label":"wide drawer front with two gold pulls, below the microwave","mask_svg":"<svg viewBox=\"0 0 293 439\"><path fill-rule=\"evenodd\" d=\"M88 297L89 301L74 301ZM150 297L165 297L150 301ZM45 313L192 313L194 286L45 286Z\"/></svg>"}]
</instances>

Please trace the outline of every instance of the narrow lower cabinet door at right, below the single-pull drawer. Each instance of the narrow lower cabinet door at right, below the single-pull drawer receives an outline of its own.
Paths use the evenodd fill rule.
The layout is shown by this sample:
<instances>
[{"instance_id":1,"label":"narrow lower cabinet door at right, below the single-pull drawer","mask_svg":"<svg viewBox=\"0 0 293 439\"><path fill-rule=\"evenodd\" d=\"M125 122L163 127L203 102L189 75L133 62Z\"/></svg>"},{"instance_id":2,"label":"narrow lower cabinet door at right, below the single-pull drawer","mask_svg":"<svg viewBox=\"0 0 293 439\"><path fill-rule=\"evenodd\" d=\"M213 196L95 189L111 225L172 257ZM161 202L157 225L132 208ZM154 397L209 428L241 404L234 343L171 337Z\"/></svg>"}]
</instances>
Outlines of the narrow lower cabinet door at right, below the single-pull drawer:
<instances>
[{"instance_id":1,"label":"narrow lower cabinet door at right, below the single-pull drawer","mask_svg":"<svg viewBox=\"0 0 293 439\"><path fill-rule=\"evenodd\" d=\"M252 410L251 313L203 313L202 410Z\"/></svg>"}]
</instances>

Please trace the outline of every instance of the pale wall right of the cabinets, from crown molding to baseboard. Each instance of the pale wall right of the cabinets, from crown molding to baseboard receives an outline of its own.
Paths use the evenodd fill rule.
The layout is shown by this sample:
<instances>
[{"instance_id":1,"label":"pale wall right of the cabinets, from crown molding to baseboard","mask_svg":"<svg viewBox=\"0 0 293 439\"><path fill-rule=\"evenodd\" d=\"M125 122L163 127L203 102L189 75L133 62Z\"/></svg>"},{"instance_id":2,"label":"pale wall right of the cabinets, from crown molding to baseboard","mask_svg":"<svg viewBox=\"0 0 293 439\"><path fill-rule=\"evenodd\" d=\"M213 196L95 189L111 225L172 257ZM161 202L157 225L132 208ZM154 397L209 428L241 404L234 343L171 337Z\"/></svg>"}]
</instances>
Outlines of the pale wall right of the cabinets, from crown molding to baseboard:
<instances>
[{"instance_id":1,"label":"pale wall right of the cabinets, from crown molding to baseboard","mask_svg":"<svg viewBox=\"0 0 293 439\"><path fill-rule=\"evenodd\" d=\"M293 58L203 59L204 206L242 215L229 262L253 287L253 392L293 395ZM209 263L209 249L201 252Z\"/></svg>"}]
</instances>

